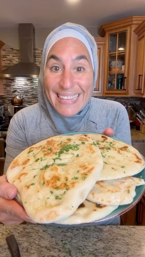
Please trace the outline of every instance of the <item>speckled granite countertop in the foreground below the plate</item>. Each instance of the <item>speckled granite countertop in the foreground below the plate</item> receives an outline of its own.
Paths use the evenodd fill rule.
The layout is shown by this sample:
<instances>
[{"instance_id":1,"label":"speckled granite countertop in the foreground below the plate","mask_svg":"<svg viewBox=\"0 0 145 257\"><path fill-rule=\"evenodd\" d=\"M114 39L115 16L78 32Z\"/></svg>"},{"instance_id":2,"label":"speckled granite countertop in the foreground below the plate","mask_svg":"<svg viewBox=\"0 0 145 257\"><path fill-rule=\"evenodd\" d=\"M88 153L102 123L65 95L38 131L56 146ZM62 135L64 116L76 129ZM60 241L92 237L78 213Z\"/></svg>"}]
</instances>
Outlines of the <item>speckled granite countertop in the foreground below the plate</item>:
<instances>
[{"instance_id":1,"label":"speckled granite countertop in the foreground below the plate","mask_svg":"<svg viewBox=\"0 0 145 257\"><path fill-rule=\"evenodd\" d=\"M6 237L14 234L22 257L145 257L144 226L0 225L0 256L11 256Z\"/></svg>"}]
</instances>

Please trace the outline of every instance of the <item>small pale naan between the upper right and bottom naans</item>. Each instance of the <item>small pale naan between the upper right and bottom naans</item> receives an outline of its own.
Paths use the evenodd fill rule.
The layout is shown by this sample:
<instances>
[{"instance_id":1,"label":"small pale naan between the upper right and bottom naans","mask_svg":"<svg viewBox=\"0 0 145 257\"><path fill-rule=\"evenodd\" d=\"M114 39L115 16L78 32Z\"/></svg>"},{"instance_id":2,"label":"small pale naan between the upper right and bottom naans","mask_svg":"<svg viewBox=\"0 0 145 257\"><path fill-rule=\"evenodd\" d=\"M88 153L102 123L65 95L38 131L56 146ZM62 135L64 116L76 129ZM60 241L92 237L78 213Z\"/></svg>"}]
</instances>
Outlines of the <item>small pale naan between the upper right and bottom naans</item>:
<instances>
[{"instance_id":1,"label":"small pale naan between the upper right and bottom naans","mask_svg":"<svg viewBox=\"0 0 145 257\"><path fill-rule=\"evenodd\" d=\"M143 179L134 177L98 181L86 199L101 205L130 204L136 195L136 186L144 184Z\"/></svg>"}]
</instances>

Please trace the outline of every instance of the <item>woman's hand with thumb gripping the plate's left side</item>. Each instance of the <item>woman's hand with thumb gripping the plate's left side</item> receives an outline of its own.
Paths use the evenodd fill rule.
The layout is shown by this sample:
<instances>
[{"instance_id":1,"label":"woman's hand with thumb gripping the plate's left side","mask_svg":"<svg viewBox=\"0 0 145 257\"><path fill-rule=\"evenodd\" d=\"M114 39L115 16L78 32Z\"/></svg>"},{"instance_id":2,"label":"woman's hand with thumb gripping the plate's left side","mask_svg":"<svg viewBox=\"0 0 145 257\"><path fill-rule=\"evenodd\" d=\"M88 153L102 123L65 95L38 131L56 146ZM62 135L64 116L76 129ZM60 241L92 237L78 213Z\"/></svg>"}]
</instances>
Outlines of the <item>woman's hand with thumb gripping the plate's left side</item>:
<instances>
[{"instance_id":1,"label":"woman's hand with thumb gripping the plate's left side","mask_svg":"<svg viewBox=\"0 0 145 257\"><path fill-rule=\"evenodd\" d=\"M23 221L34 223L14 199L17 189L9 184L6 175L0 176L0 222L8 225L20 224Z\"/></svg>"}]
</instances>

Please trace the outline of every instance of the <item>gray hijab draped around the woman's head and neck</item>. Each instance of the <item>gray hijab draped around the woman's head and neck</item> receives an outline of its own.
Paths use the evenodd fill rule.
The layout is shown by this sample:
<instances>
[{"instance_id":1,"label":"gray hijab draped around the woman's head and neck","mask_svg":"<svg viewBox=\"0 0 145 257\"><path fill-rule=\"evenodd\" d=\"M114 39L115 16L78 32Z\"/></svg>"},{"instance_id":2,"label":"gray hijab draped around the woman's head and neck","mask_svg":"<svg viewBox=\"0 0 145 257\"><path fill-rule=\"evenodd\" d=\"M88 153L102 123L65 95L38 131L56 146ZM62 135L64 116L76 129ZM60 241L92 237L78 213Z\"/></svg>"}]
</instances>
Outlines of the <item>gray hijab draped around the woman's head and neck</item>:
<instances>
[{"instance_id":1,"label":"gray hijab draped around the woman's head and neck","mask_svg":"<svg viewBox=\"0 0 145 257\"><path fill-rule=\"evenodd\" d=\"M79 128L84 123L84 121L88 119L90 106L91 106L91 98L90 98L88 102L85 104L85 106L82 108L82 110L80 110L79 113L77 113L72 117L65 117L60 115L54 109L54 107L50 104L49 100L46 97L46 93L44 89L44 63L45 63L46 48L47 48L48 42L54 36L54 34L66 28L72 28L82 33L87 39L91 47L93 62L94 62L94 80L92 85L92 92L95 87L95 82L96 82L97 73L98 73L97 45L96 45L95 39L91 36L91 34L87 31L85 27L78 24L66 23L56 28L48 35L43 48L42 62L41 62L39 79L38 79L38 102L41 104L42 111L47 122L49 123L50 127L54 130L54 132L56 132L57 134L75 132L79 130Z\"/></svg>"}]
</instances>

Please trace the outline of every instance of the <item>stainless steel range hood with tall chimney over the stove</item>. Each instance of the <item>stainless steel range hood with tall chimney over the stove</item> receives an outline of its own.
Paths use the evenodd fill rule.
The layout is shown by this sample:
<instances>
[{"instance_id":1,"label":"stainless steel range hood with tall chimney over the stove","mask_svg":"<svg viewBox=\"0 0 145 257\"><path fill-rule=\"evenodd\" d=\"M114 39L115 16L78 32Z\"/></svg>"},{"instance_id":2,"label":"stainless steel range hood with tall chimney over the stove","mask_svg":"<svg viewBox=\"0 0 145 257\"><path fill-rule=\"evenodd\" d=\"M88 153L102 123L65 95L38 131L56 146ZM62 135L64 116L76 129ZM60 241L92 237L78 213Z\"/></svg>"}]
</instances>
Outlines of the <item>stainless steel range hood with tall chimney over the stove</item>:
<instances>
[{"instance_id":1,"label":"stainless steel range hood with tall chimney over the stove","mask_svg":"<svg viewBox=\"0 0 145 257\"><path fill-rule=\"evenodd\" d=\"M20 62L0 70L1 78L38 78L40 68L35 63L35 28L32 23L20 23L18 27Z\"/></svg>"}]
</instances>

